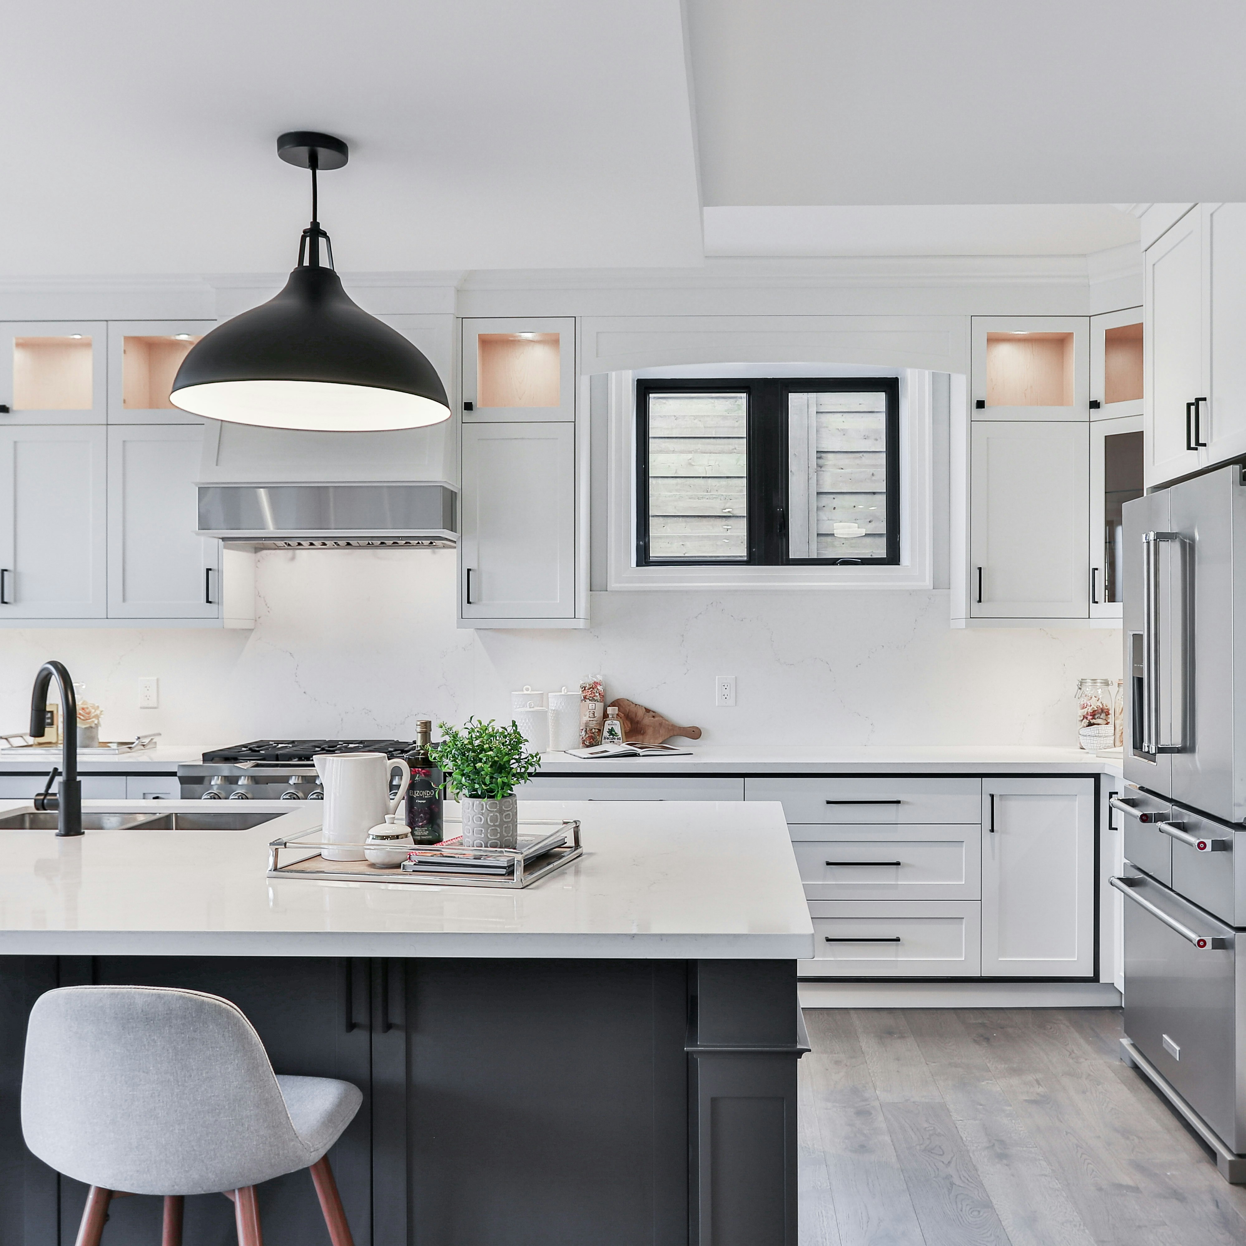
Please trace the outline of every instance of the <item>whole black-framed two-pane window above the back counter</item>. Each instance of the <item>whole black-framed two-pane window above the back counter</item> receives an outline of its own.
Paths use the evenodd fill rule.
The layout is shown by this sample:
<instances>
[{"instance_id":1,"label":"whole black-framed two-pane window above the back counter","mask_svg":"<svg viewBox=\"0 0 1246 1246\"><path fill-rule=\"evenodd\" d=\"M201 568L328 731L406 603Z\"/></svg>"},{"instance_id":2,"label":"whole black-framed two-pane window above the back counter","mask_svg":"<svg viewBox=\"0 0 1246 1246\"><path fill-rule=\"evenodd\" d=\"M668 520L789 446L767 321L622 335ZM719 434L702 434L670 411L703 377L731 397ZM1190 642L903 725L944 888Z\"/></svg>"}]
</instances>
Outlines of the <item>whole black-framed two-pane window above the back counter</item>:
<instances>
[{"instance_id":1,"label":"whole black-framed two-pane window above the back counter","mask_svg":"<svg viewBox=\"0 0 1246 1246\"><path fill-rule=\"evenodd\" d=\"M893 376L637 381L642 567L900 562Z\"/></svg>"}]
</instances>

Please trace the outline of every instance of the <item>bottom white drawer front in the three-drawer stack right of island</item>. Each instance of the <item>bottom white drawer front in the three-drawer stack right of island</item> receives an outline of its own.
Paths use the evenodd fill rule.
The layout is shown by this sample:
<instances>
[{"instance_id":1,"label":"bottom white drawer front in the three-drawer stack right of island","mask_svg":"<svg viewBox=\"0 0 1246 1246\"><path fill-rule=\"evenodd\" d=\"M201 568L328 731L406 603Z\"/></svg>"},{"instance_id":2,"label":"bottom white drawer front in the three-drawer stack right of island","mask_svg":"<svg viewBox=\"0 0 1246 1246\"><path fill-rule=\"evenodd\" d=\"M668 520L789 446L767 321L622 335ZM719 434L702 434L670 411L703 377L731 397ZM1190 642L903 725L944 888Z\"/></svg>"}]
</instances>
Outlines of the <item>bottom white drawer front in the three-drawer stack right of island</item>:
<instances>
[{"instance_id":1,"label":"bottom white drawer front in the three-drawer stack right of island","mask_svg":"<svg viewBox=\"0 0 1246 1246\"><path fill-rule=\"evenodd\" d=\"M981 906L973 901L812 900L816 959L801 977L976 978ZM831 941L831 942L829 942Z\"/></svg>"}]
</instances>

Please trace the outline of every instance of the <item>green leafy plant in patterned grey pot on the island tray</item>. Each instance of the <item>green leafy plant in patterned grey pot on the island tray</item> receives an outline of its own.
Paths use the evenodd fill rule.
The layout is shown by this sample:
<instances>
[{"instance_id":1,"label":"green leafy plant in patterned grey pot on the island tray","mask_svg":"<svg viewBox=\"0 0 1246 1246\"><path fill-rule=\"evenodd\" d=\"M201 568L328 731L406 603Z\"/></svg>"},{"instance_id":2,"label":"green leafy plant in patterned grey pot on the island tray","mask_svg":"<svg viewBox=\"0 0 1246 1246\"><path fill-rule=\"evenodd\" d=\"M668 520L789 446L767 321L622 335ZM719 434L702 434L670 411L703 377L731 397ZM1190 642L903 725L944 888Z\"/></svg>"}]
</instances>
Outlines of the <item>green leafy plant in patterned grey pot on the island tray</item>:
<instances>
[{"instance_id":1,"label":"green leafy plant in patterned grey pot on the island tray","mask_svg":"<svg viewBox=\"0 0 1246 1246\"><path fill-rule=\"evenodd\" d=\"M515 787L531 779L541 754L530 753L512 721L500 726L468 718L457 730L440 723L441 740L429 750L446 773L442 787L462 807L464 847L513 849L520 842Z\"/></svg>"}]
</instances>

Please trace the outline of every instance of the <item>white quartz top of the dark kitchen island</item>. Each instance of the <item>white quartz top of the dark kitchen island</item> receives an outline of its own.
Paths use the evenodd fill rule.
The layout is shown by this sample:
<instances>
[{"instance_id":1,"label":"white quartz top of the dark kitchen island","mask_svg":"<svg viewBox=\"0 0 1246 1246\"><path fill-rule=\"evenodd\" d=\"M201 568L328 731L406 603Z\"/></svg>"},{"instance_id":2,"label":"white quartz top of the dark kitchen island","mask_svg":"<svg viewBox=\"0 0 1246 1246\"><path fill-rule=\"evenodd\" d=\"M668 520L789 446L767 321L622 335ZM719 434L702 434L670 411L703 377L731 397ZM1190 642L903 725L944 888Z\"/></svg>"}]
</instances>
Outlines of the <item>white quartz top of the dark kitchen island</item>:
<instances>
[{"instance_id":1,"label":"white quartz top of the dark kitchen island","mask_svg":"<svg viewBox=\"0 0 1246 1246\"><path fill-rule=\"evenodd\" d=\"M0 815L29 809L0 801ZM452 806L451 806L452 807ZM199 801L85 801L83 810ZM584 855L522 891L269 878L247 831L0 830L0 953L806 959L814 933L782 807L771 801L523 801L579 817Z\"/></svg>"}]
</instances>

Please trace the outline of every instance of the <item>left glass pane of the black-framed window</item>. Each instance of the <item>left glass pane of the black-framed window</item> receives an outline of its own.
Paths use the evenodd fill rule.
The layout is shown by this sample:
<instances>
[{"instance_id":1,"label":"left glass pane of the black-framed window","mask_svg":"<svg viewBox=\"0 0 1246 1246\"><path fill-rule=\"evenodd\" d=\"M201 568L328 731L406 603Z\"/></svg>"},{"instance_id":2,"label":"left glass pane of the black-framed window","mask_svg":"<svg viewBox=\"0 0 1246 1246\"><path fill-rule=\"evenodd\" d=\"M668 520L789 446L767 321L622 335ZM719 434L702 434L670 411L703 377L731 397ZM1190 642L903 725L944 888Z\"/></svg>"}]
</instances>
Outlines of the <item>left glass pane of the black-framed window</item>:
<instances>
[{"instance_id":1,"label":"left glass pane of the black-framed window","mask_svg":"<svg viewBox=\"0 0 1246 1246\"><path fill-rule=\"evenodd\" d=\"M649 394L649 557L749 556L748 395Z\"/></svg>"}]
</instances>

